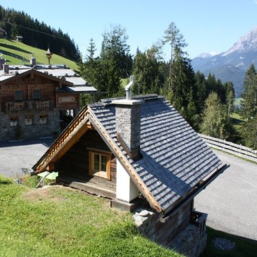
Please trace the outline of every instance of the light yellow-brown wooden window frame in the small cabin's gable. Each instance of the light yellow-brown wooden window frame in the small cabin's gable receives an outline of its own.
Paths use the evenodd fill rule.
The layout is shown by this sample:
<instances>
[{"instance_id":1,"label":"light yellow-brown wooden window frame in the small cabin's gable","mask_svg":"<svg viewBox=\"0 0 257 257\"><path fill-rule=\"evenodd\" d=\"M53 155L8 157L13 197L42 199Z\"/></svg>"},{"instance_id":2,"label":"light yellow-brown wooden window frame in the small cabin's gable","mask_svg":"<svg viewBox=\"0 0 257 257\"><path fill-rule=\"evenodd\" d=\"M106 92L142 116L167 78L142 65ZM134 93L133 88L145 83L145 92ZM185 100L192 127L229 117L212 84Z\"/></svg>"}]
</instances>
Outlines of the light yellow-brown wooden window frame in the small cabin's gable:
<instances>
[{"instance_id":1,"label":"light yellow-brown wooden window frame in the small cabin's gable","mask_svg":"<svg viewBox=\"0 0 257 257\"><path fill-rule=\"evenodd\" d=\"M106 151L88 150L89 175L94 175L100 178L106 178L107 180L111 180L111 154L112 153ZM99 155L99 166L102 166L102 156L106 156L106 171L95 172L95 155Z\"/></svg>"}]
</instances>

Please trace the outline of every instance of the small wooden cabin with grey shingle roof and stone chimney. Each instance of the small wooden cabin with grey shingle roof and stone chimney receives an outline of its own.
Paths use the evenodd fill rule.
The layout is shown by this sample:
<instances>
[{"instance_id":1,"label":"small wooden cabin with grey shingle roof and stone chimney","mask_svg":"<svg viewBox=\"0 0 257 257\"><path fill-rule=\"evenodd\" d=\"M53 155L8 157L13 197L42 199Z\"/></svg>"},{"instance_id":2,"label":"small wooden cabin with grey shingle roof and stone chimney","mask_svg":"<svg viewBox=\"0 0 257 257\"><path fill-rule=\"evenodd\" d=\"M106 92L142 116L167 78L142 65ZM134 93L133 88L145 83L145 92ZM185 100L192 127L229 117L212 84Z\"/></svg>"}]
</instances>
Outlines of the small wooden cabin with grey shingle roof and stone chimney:
<instances>
[{"instance_id":1,"label":"small wooden cabin with grey shingle roof and stone chimney","mask_svg":"<svg viewBox=\"0 0 257 257\"><path fill-rule=\"evenodd\" d=\"M58 182L111 198L112 207L149 204L155 218L146 236L174 247L171 242L189 231L187 247L193 245L198 255L207 215L194 211L193 198L225 169L164 97L144 95L88 105L33 173L59 171Z\"/></svg>"}]
</instances>

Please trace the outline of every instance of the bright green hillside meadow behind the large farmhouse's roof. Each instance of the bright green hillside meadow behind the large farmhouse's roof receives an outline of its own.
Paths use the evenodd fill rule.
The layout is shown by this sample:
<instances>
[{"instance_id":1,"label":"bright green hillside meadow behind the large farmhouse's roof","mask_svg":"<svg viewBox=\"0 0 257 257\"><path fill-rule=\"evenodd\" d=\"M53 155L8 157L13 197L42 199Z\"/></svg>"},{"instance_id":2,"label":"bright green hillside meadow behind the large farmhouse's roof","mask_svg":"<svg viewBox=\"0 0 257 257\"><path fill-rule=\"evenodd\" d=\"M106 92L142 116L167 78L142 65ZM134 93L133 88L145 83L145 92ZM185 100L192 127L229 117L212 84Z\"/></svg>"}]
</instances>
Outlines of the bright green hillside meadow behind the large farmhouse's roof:
<instances>
[{"instance_id":1,"label":"bright green hillside meadow behind the large farmhouse's roof","mask_svg":"<svg viewBox=\"0 0 257 257\"><path fill-rule=\"evenodd\" d=\"M29 64L31 53L34 53L37 64L48 64L48 59L46 59L45 55L46 50L28 46L14 40L0 39L0 53L3 54L4 59L8 60L8 64ZM24 58L24 62L22 62L22 57ZM74 61L70 61L59 55L53 55L50 63L66 64L73 70L77 69L77 65Z\"/></svg>"}]
</instances>

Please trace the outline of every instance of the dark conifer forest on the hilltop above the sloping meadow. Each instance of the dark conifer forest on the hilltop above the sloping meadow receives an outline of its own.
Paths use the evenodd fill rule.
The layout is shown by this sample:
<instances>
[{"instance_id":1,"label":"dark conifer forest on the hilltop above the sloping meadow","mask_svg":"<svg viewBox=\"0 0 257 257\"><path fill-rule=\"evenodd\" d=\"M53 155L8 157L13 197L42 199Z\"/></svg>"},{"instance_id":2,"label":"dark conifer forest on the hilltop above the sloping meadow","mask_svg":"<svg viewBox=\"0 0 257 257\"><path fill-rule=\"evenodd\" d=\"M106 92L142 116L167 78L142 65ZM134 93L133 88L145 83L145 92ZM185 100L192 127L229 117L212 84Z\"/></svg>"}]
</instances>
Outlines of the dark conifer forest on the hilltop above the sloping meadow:
<instances>
[{"instance_id":1,"label":"dark conifer forest on the hilltop above the sloping meadow","mask_svg":"<svg viewBox=\"0 0 257 257\"><path fill-rule=\"evenodd\" d=\"M8 39L16 40L17 36L22 36L24 44L44 50L50 46L50 50L57 55L73 61L79 59L79 48L67 33L32 19L25 12L0 6L0 28L6 30Z\"/></svg>"}]
</instances>

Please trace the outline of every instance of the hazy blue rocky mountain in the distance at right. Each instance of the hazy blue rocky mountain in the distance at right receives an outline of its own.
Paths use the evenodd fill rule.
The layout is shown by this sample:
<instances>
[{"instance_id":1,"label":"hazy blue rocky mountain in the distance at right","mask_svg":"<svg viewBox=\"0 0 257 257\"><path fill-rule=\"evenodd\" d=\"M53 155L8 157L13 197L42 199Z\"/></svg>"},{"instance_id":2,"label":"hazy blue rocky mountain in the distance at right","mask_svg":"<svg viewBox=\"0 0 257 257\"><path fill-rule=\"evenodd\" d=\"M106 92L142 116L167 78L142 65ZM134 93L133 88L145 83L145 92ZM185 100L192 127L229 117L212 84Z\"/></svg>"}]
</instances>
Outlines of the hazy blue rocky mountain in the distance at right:
<instances>
[{"instance_id":1,"label":"hazy blue rocky mountain in the distance at right","mask_svg":"<svg viewBox=\"0 0 257 257\"><path fill-rule=\"evenodd\" d=\"M257 26L226 52L209 57L201 54L192 60L194 70L206 76L214 74L222 82L233 82L236 97L242 93L243 78L250 64L257 66Z\"/></svg>"}]
</instances>

